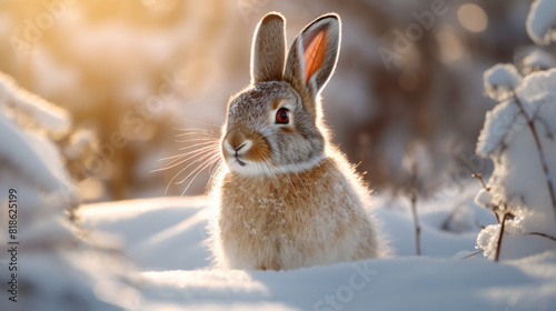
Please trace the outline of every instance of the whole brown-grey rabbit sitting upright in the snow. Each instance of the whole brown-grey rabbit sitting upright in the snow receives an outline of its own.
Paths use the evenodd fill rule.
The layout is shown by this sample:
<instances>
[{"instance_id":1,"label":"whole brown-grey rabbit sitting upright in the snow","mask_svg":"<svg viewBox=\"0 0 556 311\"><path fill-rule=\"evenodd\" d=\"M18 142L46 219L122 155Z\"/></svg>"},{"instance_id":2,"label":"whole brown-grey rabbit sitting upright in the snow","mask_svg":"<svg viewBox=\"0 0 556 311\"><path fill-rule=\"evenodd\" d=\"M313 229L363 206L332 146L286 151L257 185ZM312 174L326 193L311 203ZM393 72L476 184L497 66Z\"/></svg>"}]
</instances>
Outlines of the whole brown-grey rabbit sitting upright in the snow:
<instances>
[{"instance_id":1,"label":"whole brown-grey rabbit sitting upright in the snow","mask_svg":"<svg viewBox=\"0 0 556 311\"><path fill-rule=\"evenodd\" d=\"M212 187L215 247L231 269L288 270L379 257L368 191L330 146L320 91L339 53L340 19L319 17L286 58L285 19L255 31L251 84L231 97L224 167ZM218 254L217 254L218 259Z\"/></svg>"}]
</instances>

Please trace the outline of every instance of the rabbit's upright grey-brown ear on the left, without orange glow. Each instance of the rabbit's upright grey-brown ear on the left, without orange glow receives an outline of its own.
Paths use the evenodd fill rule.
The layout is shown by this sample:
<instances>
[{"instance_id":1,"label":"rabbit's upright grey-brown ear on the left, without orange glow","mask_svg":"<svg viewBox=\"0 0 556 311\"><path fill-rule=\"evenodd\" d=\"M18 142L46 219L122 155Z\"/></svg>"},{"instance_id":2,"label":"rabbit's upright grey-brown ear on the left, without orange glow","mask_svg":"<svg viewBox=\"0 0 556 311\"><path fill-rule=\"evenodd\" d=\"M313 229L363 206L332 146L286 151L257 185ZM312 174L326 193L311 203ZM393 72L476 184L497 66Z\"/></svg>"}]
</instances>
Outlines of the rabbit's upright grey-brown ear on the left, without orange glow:
<instances>
[{"instance_id":1,"label":"rabbit's upright grey-brown ear on the left, without orange glow","mask_svg":"<svg viewBox=\"0 0 556 311\"><path fill-rule=\"evenodd\" d=\"M280 81L286 59L285 19L280 13L266 14L257 26L251 48L251 84Z\"/></svg>"}]
</instances>

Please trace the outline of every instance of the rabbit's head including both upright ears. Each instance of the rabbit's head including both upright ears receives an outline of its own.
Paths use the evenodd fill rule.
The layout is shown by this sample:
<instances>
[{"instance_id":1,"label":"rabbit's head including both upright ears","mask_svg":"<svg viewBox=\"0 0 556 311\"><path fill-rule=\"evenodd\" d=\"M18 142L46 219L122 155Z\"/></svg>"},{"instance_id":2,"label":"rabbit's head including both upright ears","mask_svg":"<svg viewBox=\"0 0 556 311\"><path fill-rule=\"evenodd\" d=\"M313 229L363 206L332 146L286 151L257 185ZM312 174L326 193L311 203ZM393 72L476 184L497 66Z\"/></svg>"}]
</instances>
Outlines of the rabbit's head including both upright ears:
<instances>
[{"instance_id":1,"label":"rabbit's head including both upright ears","mask_svg":"<svg viewBox=\"0 0 556 311\"><path fill-rule=\"evenodd\" d=\"M259 22L251 49L251 84L228 102L222 153L246 175L302 171L325 157L319 92L336 67L340 20L325 14L296 38L286 58L285 19Z\"/></svg>"}]
</instances>

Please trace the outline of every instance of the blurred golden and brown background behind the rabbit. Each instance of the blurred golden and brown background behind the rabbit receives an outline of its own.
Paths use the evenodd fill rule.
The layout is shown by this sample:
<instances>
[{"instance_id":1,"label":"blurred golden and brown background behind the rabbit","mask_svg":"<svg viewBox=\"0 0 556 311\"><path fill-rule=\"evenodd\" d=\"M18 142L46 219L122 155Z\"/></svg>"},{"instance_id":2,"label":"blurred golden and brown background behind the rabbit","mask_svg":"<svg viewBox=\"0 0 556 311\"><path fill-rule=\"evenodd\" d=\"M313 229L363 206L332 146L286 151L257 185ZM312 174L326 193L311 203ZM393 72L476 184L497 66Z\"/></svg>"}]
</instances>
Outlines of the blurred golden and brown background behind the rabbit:
<instances>
[{"instance_id":1,"label":"blurred golden and brown background behind the rabbit","mask_svg":"<svg viewBox=\"0 0 556 311\"><path fill-rule=\"evenodd\" d=\"M53 139L86 202L163 195L168 184L167 194L180 195L186 184L170 181L185 164L151 171L195 143L177 141L180 129L218 136L227 99L249 83L259 19L285 14L291 44L312 19L334 11L342 19L341 51L322 92L334 142L375 191L406 191L407 163L417 161L420 193L433 195L467 182L470 172L488 172L474 156L495 104L483 96L483 72L497 62L519 64L539 49L525 32L529 7L524 0L0 0L0 40L8 42L0 46L0 71L71 113L72 131ZM200 173L185 194L203 193L209 175Z\"/></svg>"}]
</instances>

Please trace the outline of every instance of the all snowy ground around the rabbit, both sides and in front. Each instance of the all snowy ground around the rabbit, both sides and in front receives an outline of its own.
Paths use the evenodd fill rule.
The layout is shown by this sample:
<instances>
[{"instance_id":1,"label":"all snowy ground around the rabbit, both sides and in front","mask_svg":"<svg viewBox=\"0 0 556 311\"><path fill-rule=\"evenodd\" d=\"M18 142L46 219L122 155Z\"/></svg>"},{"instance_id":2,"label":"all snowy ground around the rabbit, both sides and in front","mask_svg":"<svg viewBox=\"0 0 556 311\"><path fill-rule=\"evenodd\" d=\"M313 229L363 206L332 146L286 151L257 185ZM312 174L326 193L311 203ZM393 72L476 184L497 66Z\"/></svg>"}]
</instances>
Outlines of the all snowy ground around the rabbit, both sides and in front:
<instances>
[{"instance_id":1,"label":"all snowy ground around the rabbit, both sides and in front","mask_svg":"<svg viewBox=\"0 0 556 311\"><path fill-rule=\"evenodd\" d=\"M423 257L414 255L407 201L384 195L376 214L395 258L279 272L211 267L203 197L90 204L81 217L93 232L119 237L139 271L141 310L555 310L556 251L500 263L461 259L478 225L494 222L469 203L476 191L419 205Z\"/></svg>"}]
</instances>

